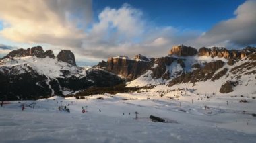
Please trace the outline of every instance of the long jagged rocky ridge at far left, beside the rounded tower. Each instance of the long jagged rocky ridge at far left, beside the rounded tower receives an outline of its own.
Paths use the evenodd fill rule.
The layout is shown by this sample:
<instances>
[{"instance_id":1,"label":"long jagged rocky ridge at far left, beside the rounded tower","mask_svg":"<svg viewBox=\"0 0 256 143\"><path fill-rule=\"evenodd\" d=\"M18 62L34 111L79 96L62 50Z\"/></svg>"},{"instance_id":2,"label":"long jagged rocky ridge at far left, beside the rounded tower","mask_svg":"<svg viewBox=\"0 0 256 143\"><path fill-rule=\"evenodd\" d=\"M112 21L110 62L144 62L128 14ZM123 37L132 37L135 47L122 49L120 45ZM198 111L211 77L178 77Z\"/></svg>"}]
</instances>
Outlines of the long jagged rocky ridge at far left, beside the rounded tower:
<instances>
[{"instance_id":1,"label":"long jagged rocky ridge at far left, beside the rounded tower","mask_svg":"<svg viewBox=\"0 0 256 143\"><path fill-rule=\"evenodd\" d=\"M36 56L38 58L45 58L46 56L49 56L49 58L54 58L54 54L52 50L47 50L44 52L41 46L36 46L32 48L28 48L27 50L24 50L22 48L18 50L13 50L7 56L4 58L12 58L12 57L23 57L23 56Z\"/></svg>"}]
</instances>

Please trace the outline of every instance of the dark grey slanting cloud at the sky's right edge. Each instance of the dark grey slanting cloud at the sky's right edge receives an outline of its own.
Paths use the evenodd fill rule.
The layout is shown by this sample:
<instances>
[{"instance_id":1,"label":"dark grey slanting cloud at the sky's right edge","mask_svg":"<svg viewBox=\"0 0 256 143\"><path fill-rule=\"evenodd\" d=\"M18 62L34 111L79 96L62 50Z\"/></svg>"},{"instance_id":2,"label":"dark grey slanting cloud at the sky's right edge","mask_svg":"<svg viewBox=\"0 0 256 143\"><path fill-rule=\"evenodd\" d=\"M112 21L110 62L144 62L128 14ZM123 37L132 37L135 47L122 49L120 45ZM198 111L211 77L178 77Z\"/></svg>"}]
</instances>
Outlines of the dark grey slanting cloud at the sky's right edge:
<instances>
[{"instance_id":1,"label":"dark grey slanting cloud at the sky's right edge","mask_svg":"<svg viewBox=\"0 0 256 143\"><path fill-rule=\"evenodd\" d=\"M234 15L236 17L221 21L211 30L200 36L196 44L200 46L249 46L256 44L256 1L245 1Z\"/></svg>"}]
</instances>

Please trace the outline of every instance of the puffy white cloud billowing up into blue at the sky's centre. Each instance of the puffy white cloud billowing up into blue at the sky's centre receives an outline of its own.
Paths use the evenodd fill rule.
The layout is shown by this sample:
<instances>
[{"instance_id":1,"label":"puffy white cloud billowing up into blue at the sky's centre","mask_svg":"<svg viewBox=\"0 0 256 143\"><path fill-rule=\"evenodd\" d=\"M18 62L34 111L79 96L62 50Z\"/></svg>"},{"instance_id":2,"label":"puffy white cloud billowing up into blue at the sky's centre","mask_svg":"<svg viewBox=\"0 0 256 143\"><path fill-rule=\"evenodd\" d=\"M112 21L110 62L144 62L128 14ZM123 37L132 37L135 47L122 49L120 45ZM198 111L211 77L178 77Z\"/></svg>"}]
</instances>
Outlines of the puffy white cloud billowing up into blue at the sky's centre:
<instances>
[{"instance_id":1,"label":"puffy white cloud billowing up into blue at the sky's centre","mask_svg":"<svg viewBox=\"0 0 256 143\"><path fill-rule=\"evenodd\" d=\"M173 45L195 39L201 34L147 23L143 12L131 5L124 4L119 9L106 7L84 38L82 48L77 50L86 57L98 59L123 54L129 57L135 54L163 56Z\"/></svg>"}]
</instances>

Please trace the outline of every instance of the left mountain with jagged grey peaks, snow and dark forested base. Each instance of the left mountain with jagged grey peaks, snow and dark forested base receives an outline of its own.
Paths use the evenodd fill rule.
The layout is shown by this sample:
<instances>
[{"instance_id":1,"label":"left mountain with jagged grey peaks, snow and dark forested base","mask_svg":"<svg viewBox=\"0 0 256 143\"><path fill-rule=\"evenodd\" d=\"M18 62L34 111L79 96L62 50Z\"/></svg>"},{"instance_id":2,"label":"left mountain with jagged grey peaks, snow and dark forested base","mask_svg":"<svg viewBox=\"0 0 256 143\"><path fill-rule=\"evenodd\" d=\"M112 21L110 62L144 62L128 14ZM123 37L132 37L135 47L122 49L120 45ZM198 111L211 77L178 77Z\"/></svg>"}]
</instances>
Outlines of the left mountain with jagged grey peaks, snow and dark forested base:
<instances>
[{"instance_id":1,"label":"left mountain with jagged grey peaks, snow and dark forested base","mask_svg":"<svg viewBox=\"0 0 256 143\"><path fill-rule=\"evenodd\" d=\"M15 50L0 60L3 100L67 95L88 87L108 87L123 82L104 70L75 66L70 51L61 51L61 56L55 58L53 54L45 55L40 47L32 49Z\"/></svg>"}]
</instances>

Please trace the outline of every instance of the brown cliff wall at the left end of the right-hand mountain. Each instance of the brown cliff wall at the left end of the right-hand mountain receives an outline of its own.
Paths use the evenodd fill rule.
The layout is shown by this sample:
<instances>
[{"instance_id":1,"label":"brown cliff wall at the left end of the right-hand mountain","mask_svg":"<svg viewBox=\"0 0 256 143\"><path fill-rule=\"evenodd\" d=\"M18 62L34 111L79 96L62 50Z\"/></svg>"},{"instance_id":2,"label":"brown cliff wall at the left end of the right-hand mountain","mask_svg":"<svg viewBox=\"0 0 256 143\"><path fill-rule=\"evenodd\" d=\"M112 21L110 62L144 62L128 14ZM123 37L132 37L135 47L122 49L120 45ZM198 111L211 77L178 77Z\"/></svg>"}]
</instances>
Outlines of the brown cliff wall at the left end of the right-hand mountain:
<instances>
[{"instance_id":1,"label":"brown cliff wall at the left end of the right-hand mountain","mask_svg":"<svg viewBox=\"0 0 256 143\"><path fill-rule=\"evenodd\" d=\"M151 62L131 60L125 56L119 56L118 58L108 58L107 65L106 70L131 81L149 70Z\"/></svg>"}]
</instances>

